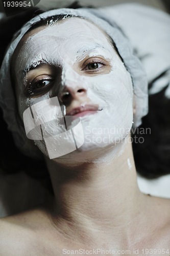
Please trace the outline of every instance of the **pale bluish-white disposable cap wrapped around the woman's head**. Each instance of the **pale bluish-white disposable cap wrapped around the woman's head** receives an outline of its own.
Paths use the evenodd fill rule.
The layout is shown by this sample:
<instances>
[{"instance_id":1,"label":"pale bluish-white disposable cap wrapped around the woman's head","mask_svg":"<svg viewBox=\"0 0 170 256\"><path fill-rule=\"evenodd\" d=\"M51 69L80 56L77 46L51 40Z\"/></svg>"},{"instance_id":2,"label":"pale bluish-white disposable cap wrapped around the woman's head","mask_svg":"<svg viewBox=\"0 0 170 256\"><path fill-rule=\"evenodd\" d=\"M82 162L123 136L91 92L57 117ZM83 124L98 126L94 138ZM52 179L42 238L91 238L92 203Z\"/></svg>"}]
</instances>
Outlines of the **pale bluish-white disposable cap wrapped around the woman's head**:
<instances>
[{"instance_id":1,"label":"pale bluish-white disposable cap wrapped around the woman's head","mask_svg":"<svg viewBox=\"0 0 170 256\"><path fill-rule=\"evenodd\" d=\"M14 84L11 82L10 63L18 42L22 36L30 29L31 25L41 18L54 15L73 15L86 18L103 29L114 41L119 55L122 57L125 66L132 77L135 99L134 126L141 124L141 118L148 113L148 82L139 59L134 56L133 49L123 32L113 22L106 22L106 17L102 16L99 10L95 9L57 9L44 12L31 19L13 37L0 71L0 106L4 112L4 119L8 124L8 129L13 133L17 147L26 155L37 157L38 150L33 149L29 143L24 126L18 121L17 104L14 95ZM66 17L66 16L65 16ZM95 36L95 35L94 35Z\"/></svg>"}]
</instances>

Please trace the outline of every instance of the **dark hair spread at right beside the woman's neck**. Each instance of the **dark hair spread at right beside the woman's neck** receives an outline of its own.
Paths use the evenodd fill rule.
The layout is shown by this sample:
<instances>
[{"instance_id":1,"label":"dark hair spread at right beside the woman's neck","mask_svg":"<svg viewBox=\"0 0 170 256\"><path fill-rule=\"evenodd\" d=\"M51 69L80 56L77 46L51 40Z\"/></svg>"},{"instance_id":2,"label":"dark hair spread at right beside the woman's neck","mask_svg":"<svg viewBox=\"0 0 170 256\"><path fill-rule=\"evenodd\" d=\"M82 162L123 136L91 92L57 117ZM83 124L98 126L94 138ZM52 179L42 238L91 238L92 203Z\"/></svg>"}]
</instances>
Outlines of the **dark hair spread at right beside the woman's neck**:
<instances>
[{"instance_id":1,"label":"dark hair spread at right beside the woman's neck","mask_svg":"<svg viewBox=\"0 0 170 256\"><path fill-rule=\"evenodd\" d=\"M170 174L170 100L165 97L166 88L149 95L149 113L139 126L144 131L143 143L137 140L132 144L137 172L148 179ZM140 136L138 131L133 138Z\"/></svg>"}]
</instances>

